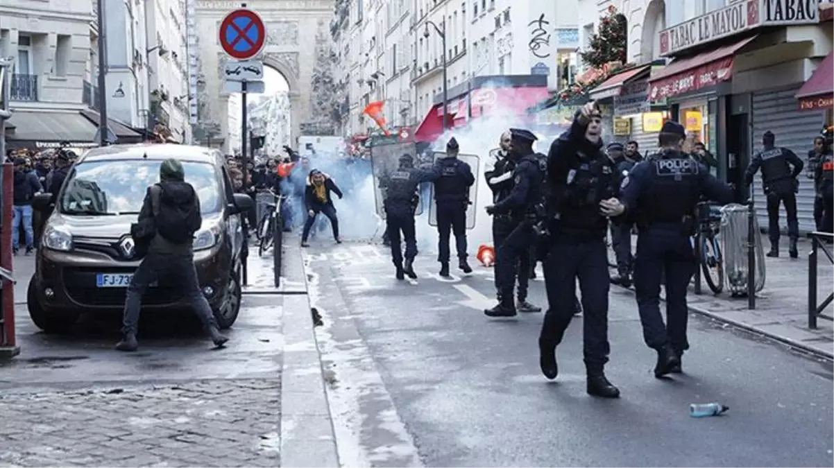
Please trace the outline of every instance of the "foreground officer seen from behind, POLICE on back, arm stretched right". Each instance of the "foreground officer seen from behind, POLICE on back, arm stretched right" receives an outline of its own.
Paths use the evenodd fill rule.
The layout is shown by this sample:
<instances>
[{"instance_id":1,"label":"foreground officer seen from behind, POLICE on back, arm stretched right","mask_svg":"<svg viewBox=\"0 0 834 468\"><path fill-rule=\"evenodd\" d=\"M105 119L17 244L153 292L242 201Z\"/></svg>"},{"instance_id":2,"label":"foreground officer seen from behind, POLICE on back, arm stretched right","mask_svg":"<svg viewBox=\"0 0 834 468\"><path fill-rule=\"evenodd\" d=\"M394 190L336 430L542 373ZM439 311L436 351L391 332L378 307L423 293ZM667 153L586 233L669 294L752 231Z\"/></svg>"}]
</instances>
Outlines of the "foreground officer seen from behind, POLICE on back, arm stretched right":
<instances>
[{"instance_id":1,"label":"foreground officer seen from behind, POLICE on back, arm stretched right","mask_svg":"<svg viewBox=\"0 0 834 468\"><path fill-rule=\"evenodd\" d=\"M685 138L680 123L664 123L656 160L634 167L620 191L626 216L636 218L640 228L635 291L643 338L657 352L657 377L680 373L681 356L689 348L686 288L697 267L690 240L696 231L696 206L701 197L721 204L733 200L731 187L681 152ZM660 310L662 271L666 272L666 324Z\"/></svg>"}]
</instances>

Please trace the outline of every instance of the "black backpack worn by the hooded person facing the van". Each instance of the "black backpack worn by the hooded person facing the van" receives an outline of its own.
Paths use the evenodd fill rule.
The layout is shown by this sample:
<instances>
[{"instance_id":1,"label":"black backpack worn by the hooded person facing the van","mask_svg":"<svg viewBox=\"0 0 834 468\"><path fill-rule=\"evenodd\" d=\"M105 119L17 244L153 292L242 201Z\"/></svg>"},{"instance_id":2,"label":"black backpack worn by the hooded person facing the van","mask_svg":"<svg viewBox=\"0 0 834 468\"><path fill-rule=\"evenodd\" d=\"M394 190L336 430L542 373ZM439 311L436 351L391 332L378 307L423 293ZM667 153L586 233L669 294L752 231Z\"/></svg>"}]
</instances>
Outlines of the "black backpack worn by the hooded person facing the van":
<instances>
[{"instance_id":1,"label":"black backpack worn by the hooded person facing the van","mask_svg":"<svg viewBox=\"0 0 834 468\"><path fill-rule=\"evenodd\" d=\"M159 206L153 214L157 234L174 244L192 242L203 223L194 188L188 182L160 182L158 186Z\"/></svg>"}]
</instances>

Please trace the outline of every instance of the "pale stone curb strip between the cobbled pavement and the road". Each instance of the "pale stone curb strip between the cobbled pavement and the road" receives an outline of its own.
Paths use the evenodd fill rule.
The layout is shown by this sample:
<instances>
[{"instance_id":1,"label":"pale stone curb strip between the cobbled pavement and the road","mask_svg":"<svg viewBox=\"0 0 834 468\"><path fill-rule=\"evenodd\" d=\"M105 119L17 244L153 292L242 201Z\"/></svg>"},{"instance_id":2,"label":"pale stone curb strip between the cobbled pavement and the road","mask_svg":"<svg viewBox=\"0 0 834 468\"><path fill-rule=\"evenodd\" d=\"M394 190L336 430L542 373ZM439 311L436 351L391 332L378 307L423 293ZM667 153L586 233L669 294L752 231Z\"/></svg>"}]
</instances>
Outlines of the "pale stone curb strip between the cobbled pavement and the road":
<instances>
[{"instance_id":1,"label":"pale stone curb strip between the cobbled pavement and the road","mask_svg":"<svg viewBox=\"0 0 834 468\"><path fill-rule=\"evenodd\" d=\"M284 246L284 249L284 261L300 261L303 265L300 247ZM308 287L305 275L304 289ZM338 468L339 455L319 343L310 316L309 291L283 298L280 466Z\"/></svg>"}]
</instances>

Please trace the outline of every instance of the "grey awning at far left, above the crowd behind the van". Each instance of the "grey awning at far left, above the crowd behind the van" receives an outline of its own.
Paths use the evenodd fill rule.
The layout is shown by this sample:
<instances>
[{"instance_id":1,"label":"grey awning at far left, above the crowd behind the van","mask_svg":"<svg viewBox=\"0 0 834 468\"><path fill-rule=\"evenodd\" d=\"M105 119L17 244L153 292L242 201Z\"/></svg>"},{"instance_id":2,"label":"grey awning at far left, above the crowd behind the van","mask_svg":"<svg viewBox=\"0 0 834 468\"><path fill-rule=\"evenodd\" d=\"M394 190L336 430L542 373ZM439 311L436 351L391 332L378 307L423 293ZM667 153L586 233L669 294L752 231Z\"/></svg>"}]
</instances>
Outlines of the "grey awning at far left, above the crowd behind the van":
<instances>
[{"instance_id":1,"label":"grey awning at far left, above the crowd behind the van","mask_svg":"<svg viewBox=\"0 0 834 468\"><path fill-rule=\"evenodd\" d=\"M77 111L13 111L6 124L10 147L41 149L69 142L73 147L93 144L96 126Z\"/></svg>"}]
</instances>

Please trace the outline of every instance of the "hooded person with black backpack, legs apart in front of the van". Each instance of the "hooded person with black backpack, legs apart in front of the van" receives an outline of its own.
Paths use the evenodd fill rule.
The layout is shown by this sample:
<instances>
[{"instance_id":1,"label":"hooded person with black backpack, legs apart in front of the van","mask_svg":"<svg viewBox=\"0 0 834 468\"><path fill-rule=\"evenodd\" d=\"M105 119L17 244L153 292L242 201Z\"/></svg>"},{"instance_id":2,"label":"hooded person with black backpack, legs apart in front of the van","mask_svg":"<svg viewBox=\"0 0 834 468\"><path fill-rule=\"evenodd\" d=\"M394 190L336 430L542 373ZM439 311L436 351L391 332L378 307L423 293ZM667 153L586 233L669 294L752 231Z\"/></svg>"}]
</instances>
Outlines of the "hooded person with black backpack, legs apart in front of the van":
<instances>
[{"instance_id":1,"label":"hooded person with black backpack, legs apart in front of the van","mask_svg":"<svg viewBox=\"0 0 834 468\"><path fill-rule=\"evenodd\" d=\"M148 187L138 221L131 227L137 246L147 246L128 286L124 300L122 341L118 351L136 351L142 295L154 282L171 278L179 281L180 291L191 302L214 346L223 346L229 338L220 334L217 319L203 291L194 268L193 236L203 224L200 201L194 187L185 182L183 165L173 158L159 166L159 182Z\"/></svg>"}]
</instances>

